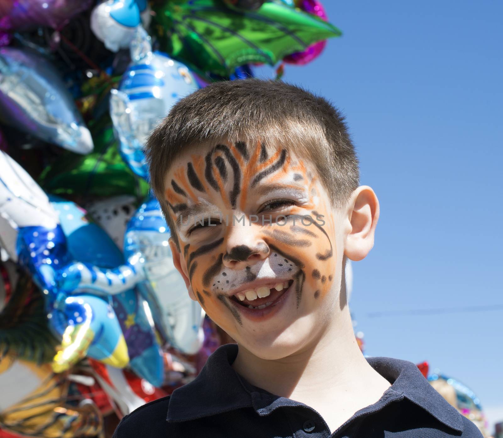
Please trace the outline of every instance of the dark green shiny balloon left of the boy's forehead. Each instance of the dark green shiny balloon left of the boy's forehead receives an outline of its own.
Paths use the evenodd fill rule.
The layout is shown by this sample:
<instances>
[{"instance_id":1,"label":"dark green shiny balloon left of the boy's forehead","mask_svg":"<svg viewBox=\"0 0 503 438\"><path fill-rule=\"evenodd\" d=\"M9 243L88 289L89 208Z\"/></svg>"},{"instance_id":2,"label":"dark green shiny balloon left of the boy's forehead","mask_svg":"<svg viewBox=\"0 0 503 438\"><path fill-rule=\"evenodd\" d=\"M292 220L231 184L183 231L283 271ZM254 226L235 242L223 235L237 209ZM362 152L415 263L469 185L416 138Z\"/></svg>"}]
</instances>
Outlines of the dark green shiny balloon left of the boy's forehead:
<instances>
[{"instance_id":1,"label":"dark green shiny balloon left of the boy's forehead","mask_svg":"<svg viewBox=\"0 0 503 438\"><path fill-rule=\"evenodd\" d=\"M91 124L89 124L91 125ZM90 126L95 144L89 155L67 153L40 176L47 192L61 196L108 197L134 195L143 199L148 183L122 160L108 115Z\"/></svg>"}]
</instances>

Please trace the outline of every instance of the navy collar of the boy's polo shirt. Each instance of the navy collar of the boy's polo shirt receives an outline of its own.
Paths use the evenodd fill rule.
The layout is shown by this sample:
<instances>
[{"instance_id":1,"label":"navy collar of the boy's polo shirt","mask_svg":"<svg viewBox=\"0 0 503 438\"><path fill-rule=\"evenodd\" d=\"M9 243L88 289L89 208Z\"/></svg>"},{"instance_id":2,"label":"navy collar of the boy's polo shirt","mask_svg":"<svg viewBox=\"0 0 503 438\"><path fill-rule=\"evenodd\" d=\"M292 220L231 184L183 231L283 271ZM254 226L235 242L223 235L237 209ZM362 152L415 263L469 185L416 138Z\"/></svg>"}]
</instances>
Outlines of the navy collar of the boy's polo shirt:
<instances>
[{"instance_id":1,"label":"navy collar of the boy's polo shirt","mask_svg":"<svg viewBox=\"0 0 503 438\"><path fill-rule=\"evenodd\" d=\"M281 406L302 405L248 383L231 367L237 351L236 344L222 345L215 350L192 382L173 391L166 420L188 421L243 407L253 407L264 416ZM392 383L376 404L383 405L405 397L447 426L463 431L461 415L428 383L413 363L382 357L367 358L367 361ZM368 406L357 414L372 410L375 409Z\"/></svg>"}]
</instances>

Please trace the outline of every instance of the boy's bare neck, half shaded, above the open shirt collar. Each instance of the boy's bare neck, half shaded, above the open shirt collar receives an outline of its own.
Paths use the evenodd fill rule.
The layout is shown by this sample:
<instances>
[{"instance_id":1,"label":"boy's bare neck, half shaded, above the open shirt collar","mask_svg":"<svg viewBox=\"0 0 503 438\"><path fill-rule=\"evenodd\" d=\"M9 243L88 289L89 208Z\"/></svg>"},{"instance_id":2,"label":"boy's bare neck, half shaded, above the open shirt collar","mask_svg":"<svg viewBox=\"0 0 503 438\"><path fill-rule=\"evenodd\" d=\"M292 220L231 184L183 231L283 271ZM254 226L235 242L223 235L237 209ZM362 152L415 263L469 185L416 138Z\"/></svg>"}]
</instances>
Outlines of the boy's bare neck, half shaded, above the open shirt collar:
<instances>
[{"instance_id":1,"label":"boy's bare neck, half shaded, above the open shirt collar","mask_svg":"<svg viewBox=\"0 0 503 438\"><path fill-rule=\"evenodd\" d=\"M232 368L252 385L305 403L322 415L323 410L341 405L344 411L351 411L342 417L350 418L356 410L379 400L390 383L362 355L348 306L333 316L318 339L301 351L265 360L239 346Z\"/></svg>"}]
</instances>

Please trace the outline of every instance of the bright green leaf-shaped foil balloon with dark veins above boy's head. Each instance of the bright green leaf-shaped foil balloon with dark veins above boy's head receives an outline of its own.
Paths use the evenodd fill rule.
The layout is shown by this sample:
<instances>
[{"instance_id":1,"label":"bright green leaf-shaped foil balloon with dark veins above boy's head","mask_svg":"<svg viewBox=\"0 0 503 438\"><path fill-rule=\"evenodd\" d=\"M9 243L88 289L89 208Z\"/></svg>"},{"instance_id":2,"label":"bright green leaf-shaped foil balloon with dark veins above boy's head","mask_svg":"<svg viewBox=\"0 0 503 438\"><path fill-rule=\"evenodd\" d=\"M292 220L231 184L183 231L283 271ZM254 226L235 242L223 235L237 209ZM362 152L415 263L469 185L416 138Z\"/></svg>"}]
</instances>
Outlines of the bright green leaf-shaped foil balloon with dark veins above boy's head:
<instances>
[{"instance_id":1,"label":"bright green leaf-shaped foil balloon with dark veins above boy's head","mask_svg":"<svg viewBox=\"0 0 503 438\"><path fill-rule=\"evenodd\" d=\"M274 65L317 41L342 35L335 26L280 0L235 11L219 0L153 5L161 50L198 72L229 76L249 62Z\"/></svg>"}]
</instances>

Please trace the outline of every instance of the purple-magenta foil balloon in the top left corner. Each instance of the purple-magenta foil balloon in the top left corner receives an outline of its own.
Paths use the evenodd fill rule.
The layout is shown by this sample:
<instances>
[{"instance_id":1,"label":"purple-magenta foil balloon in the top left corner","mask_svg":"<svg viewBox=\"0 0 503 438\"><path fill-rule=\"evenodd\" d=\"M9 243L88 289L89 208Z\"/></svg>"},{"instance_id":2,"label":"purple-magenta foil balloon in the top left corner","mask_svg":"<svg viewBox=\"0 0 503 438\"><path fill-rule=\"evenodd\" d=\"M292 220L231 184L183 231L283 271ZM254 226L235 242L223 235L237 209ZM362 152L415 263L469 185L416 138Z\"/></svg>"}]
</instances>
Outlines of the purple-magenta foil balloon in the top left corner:
<instances>
[{"instance_id":1,"label":"purple-magenta foil balloon in the top left corner","mask_svg":"<svg viewBox=\"0 0 503 438\"><path fill-rule=\"evenodd\" d=\"M93 0L0 0L0 35L36 26L57 29L92 4Z\"/></svg>"}]
</instances>

